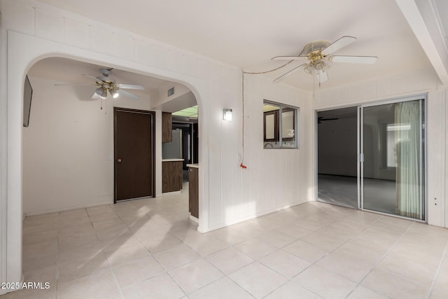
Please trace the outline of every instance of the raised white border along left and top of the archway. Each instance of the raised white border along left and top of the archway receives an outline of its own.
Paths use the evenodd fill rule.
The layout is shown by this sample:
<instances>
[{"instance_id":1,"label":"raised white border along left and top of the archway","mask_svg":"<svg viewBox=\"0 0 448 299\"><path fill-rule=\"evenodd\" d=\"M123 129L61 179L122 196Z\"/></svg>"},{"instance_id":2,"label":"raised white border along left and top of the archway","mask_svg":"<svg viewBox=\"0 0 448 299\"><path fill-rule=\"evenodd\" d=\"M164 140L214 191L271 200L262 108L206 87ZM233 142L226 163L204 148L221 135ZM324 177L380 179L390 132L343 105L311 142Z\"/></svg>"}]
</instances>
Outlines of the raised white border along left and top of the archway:
<instances>
[{"instance_id":1,"label":"raised white border along left and top of the archway","mask_svg":"<svg viewBox=\"0 0 448 299\"><path fill-rule=\"evenodd\" d=\"M20 51L23 48L27 48L27 51ZM6 235L8 237L5 237L6 242L4 244L6 246L2 248L2 251L6 251L7 281L20 281L22 278L23 161L22 102L17 99L22 99L23 97L23 82L31 66L38 60L46 57L71 57L84 62L96 62L107 64L110 67L120 67L120 69L135 71L139 74L153 74L160 78L172 78L173 81L187 85L195 94L200 106L202 105L201 95L206 93L206 85L204 81L187 75L177 74L165 69L151 67L135 61L123 60L112 57L111 55L95 53L90 50L83 50L61 43L36 39L33 36L16 32L11 32L8 35L8 53L14 53L14 55L8 55L8 197L6 202L8 211L5 211L2 216L6 219ZM202 162L203 158L200 160ZM203 181L204 178L207 178L207 176L202 174L200 181ZM200 211L202 211L201 201L205 186L207 186L207 183L202 183L200 187Z\"/></svg>"}]
</instances>

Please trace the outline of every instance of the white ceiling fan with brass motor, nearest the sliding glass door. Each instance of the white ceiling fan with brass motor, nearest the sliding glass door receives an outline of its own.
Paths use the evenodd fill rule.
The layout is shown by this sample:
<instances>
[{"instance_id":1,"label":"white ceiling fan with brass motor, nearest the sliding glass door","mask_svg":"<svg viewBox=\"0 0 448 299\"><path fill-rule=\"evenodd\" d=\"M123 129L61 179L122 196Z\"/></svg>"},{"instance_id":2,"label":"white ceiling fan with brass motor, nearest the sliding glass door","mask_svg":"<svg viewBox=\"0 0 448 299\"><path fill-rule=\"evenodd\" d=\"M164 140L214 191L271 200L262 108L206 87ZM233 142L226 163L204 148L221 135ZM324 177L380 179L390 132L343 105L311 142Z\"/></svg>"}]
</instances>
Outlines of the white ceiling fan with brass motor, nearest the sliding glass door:
<instances>
[{"instance_id":1,"label":"white ceiling fan with brass motor, nearest the sliding glass door","mask_svg":"<svg viewBox=\"0 0 448 299\"><path fill-rule=\"evenodd\" d=\"M297 56L276 56L272 60L307 60L307 63L300 64L288 71L286 74L276 78L274 82L279 82L294 74L301 67L307 74L316 74L318 83L323 83L328 80L327 69L330 67L329 62L344 62L344 63L356 63L356 64L374 64L378 57L376 56L345 56L345 55L331 55L337 50L348 46L350 43L356 41L356 37L342 36L334 43L330 41L313 41L304 46L302 52ZM330 56L331 55L331 56Z\"/></svg>"}]
</instances>

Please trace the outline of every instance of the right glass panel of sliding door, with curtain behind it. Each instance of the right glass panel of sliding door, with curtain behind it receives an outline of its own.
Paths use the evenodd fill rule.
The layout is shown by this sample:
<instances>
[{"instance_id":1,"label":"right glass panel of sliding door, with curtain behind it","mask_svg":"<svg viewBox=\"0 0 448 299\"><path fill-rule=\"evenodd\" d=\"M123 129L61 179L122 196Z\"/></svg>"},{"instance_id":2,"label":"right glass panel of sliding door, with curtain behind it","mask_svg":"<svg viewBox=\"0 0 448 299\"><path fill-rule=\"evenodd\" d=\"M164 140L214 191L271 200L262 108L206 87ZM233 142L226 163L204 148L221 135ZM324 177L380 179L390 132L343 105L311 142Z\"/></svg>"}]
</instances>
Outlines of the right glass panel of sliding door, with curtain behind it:
<instances>
[{"instance_id":1,"label":"right glass panel of sliding door, with curtain behind it","mask_svg":"<svg viewBox=\"0 0 448 299\"><path fill-rule=\"evenodd\" d=\"M360 109L361 208L424 220L424 99Z\"/></svg>"}]
</instances>

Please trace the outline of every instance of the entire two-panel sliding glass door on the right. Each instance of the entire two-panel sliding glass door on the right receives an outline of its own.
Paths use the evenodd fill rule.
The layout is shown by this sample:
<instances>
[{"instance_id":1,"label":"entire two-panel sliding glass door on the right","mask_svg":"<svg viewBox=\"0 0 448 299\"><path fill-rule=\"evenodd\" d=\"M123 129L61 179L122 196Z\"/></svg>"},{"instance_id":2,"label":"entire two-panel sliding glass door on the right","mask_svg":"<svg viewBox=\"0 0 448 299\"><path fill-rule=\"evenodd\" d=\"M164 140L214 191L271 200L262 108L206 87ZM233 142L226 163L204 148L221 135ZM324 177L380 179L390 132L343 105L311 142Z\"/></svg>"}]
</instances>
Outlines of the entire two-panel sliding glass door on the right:
<instances>
[{"instance_id":1,"label":"entire two-panel sliding glass door on the right","mask_svg":"<svg viewBox=\"0 0 448 299\"><path fill-rule=\"evenodd\" d=\"M426 220L425 96L317 112L317 200Z\"/></svg>"}]
</instances>

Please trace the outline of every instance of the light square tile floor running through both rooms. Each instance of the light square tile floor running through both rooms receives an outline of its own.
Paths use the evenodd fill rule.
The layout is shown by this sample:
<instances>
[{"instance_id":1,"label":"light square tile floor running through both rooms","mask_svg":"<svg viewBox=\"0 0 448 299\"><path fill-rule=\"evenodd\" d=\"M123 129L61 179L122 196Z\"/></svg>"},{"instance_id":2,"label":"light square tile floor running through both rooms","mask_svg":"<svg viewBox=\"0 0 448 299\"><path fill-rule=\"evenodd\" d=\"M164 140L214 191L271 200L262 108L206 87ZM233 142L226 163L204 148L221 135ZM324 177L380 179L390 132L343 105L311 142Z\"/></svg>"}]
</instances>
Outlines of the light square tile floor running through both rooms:
<instances>
[{"instance_id":1,"label":"light square tile floor running through both rooms","mask_svg":"<svg viewBox=\"0 0 448 299\"><path fill-rule=\"evenodd\" d=\"M1 299L448 298L448 230L308 202L200 234L187 197L25 218L25 281L50 289Z\"/></svg>"}]
</instances>

